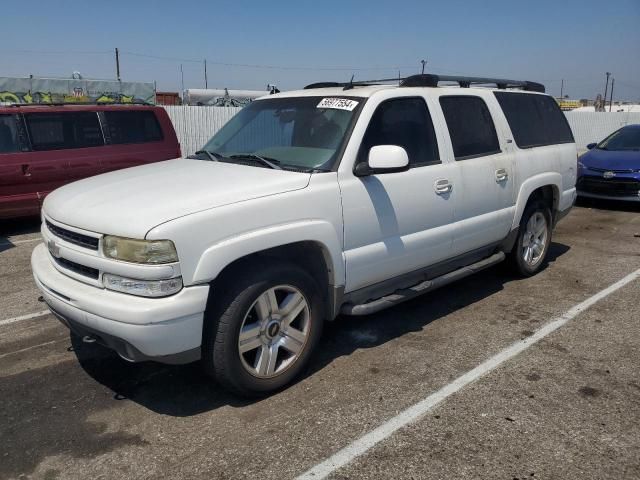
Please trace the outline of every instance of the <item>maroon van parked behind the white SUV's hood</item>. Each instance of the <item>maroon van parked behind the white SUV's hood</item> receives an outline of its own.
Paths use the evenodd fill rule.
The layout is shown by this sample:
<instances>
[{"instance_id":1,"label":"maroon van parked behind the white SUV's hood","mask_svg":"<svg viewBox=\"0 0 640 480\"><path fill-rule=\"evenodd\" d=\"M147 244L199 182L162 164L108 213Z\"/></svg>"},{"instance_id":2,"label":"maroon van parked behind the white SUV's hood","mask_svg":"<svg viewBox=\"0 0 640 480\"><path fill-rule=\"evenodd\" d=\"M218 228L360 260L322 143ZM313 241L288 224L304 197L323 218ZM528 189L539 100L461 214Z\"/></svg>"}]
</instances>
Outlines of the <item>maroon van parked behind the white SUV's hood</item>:
<instances>
[{"instance_id":1,"label":"maroon van parked behind the white SUV's hood","mask_svg":"<svg viewBox=\"0 0 640 480\"><path fill-rule=\"evenodd\" d=\"M0 219L99 173L180 157L167 112L145 105L0 106Z\"/></svg>"}]
</instances>

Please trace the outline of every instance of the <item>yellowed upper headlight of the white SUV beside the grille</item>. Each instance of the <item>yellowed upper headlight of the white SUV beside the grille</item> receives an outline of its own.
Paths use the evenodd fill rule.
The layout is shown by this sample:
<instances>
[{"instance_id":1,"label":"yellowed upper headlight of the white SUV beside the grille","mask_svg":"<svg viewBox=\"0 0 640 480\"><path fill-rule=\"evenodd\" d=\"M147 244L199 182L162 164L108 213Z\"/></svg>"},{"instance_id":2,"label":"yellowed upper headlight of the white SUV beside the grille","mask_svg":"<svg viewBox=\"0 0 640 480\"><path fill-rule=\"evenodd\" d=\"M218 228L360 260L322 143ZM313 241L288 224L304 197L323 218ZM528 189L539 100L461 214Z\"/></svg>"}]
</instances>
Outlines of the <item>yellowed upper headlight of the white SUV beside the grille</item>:
<instances>
[{"instance_id":1,"label":"yellowed upper headlight of the white SUV beside the grille","mask_svg":"<svg viewBox=\"0 0 640 480\"><path fill-rule=\"evenodd\" d=\"M172 263L178 261L171 240L134 240L107 235L102 239L105 257L132 263Z\"/></svg>"}]
</instances>

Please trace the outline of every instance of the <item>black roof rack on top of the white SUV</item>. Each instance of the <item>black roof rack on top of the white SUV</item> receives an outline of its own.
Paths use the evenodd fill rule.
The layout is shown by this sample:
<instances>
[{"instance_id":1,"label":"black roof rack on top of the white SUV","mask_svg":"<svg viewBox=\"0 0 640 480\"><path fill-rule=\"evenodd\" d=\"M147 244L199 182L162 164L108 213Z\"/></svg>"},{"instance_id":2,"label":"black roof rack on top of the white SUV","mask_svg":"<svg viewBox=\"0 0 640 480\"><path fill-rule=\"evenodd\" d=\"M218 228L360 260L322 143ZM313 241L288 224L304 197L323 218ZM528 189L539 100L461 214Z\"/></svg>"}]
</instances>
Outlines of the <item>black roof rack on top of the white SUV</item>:
<instances>
[{"instance_id":1,"label":"black roof rack on top of the white SUV","mask_svg":"<svg viewBox=\"0 0 640 480\"><path fill-rule=\"evenodd\" d=\"M541 83L529 82L527 80L508 80L506 78L488 77L461 77L456 75L434 75L421 74L411 75L404 78L383 78L380 80L361 80L358 82L317 82L307 85L305 90L313 88L343 87L350 90L354 87L364 87L370 85L383 85L389 82L398 82L401 87L437 87L440 82L457 83L462 88L469 88L472 85L495 85L504 90L507 88L521 88L530 92L544 93L545 88Z\"/></svg>"}]
</instances>

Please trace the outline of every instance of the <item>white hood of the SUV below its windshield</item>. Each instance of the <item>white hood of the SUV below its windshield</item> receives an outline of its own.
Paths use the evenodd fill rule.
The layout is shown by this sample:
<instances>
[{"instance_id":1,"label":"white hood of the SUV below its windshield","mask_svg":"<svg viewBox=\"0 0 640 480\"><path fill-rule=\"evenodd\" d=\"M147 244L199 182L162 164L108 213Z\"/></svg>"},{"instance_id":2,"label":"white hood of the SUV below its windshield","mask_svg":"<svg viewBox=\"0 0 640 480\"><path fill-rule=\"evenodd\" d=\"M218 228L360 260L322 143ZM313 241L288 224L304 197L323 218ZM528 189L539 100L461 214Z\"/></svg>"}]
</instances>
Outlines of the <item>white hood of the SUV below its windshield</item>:
<instances>
[{"instance_id":1,"label":"white hood of the SUV below its windshield","mask_svg":"<svg viewBox=\"0 0 640 480\"><path fill-rule=\"evenodd\" d=\"M44 212L81 229L144 238L153 227L209 208L305 188L310 173L176 159L71 183L49 194Z\"/></svg>"}]
</instances>

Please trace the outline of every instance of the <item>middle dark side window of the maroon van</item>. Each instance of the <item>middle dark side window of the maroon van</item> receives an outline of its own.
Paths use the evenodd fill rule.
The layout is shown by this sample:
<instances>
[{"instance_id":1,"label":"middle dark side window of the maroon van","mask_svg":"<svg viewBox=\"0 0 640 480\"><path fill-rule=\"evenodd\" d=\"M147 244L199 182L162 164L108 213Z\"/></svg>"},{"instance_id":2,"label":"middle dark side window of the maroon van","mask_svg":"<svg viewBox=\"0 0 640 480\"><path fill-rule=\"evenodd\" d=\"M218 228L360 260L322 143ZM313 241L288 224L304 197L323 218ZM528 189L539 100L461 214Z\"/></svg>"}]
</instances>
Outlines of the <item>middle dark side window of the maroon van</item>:
<instances>
[{"instance_id":1,"label":"middle dark side window of the maroon van","mask_svg":"<svg viewBox=\"0 0 640 480\"><path fill-rule=\"evenodd\" d=\"M33 150L60 150L104 145L96 112L27 113Z\"/></svg>"}]
</instances>

